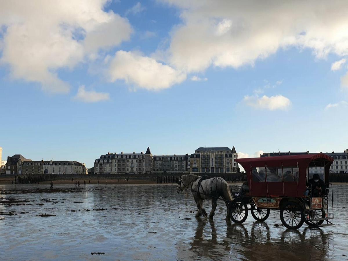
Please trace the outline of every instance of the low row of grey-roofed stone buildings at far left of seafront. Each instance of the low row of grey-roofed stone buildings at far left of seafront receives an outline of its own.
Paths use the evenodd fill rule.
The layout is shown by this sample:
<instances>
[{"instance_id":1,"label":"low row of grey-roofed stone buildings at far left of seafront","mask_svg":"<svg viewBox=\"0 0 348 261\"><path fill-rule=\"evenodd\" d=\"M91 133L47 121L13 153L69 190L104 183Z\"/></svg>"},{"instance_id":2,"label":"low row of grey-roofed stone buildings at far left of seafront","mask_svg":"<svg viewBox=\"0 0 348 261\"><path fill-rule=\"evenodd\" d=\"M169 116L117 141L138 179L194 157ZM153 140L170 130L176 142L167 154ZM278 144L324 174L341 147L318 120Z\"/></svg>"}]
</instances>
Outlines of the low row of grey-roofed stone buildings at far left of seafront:
<instances>
[{"instance_id":1,"label":"low row of grey-roofed stone buildings at far left of seafront","mask_svg":"<svg viewBox=\"0 0 348 261\"><path fill-rule=\"evenodd\" d=\"M7 157L6 174L87 174L84 163L68 160L41 160L26 159L20 154Z\"/></svg>"}]
</instances>

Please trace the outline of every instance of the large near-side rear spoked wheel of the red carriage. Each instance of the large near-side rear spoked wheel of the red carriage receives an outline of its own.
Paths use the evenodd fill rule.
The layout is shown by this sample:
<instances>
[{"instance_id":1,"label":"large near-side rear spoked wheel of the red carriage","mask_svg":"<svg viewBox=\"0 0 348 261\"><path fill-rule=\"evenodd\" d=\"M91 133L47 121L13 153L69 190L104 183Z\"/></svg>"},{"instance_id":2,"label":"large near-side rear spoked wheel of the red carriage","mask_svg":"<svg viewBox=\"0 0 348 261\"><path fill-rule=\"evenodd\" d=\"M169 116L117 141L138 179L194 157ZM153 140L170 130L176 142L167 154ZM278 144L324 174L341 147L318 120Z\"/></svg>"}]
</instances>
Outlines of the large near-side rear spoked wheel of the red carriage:
<instances>
[{"instance_id":1,"label":"large near-side rear spoked wheel of the red carriage","mask_svg":"<svg viewBox=\"0 0 348 261\"><path fill-rule=\"evenodd\" d=\"M280 220L288 229L298 229L304 222L303 209L300 204L288 201L280 208Z\"/></svg>"}]
</instances>

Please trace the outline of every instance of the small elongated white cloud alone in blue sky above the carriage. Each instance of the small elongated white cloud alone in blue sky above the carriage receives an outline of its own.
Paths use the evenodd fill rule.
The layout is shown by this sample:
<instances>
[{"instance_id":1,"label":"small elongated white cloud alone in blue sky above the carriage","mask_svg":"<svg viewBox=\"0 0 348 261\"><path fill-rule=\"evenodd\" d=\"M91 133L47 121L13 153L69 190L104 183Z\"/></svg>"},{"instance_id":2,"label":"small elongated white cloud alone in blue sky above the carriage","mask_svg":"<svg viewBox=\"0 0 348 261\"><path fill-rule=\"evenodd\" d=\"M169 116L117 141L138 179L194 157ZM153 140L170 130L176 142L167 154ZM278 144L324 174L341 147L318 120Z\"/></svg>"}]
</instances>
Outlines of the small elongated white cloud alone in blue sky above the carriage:
<instances>
[{"instance_id":1,"label":"small elongated white cloud alone in blue sky above the carriage","mask_svg":"<svg viewBox=\"0 0 348 261\"><path fill-rule=\"evenodd\" d=\"M262 97L258 96L244 96L243 102L251 107L256 109L265 109L265 110L287 110L291 107L291 101L284 97L283 95L276 95L268 97L263 95Z\"/></svg>"}]
</instances>

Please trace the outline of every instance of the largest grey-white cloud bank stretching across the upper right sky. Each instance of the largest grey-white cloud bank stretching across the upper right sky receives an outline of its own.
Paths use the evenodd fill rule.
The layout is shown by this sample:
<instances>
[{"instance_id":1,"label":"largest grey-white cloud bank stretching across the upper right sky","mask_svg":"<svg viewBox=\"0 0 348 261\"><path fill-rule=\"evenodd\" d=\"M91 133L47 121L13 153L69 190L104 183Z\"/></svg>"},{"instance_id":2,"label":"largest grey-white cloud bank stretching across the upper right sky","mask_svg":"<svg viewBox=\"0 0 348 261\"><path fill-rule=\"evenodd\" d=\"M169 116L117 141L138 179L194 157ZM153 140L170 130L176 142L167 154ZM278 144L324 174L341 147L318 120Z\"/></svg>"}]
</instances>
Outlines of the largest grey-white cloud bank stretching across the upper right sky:
<instances>
[{"instance_id":1,"label":"largest grey-white cloud bank stretching across the upper right sky","mask_svg":"<svg viewBox=\"0 0 348 261\"><path fill-rule=\"evenodd\" d=\"M181 11L167 53L172 66L187 72L254 65L292 46L310 48L317 58L348 55L348 3L342 1L163 2Z\"/></svg>"}]
</instances>

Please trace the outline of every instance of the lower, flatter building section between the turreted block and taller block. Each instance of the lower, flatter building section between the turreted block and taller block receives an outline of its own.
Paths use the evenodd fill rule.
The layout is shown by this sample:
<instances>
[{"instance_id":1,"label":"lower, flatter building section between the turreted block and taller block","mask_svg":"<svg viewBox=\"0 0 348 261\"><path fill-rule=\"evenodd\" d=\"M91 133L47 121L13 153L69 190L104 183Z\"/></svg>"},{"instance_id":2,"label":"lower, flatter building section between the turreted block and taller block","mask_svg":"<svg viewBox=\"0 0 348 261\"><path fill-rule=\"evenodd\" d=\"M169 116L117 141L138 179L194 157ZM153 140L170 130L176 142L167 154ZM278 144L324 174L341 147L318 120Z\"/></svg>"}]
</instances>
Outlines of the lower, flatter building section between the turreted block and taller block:
<instances>
[{"instance_id":1,"label":"lower, flatter building section between the turreted block and taller block","mask_svg":"<svg viewBox=\"0 0 348 261\"><path fill-rule=\"evenodd\" d=\"M187 172L188 154L186 155L154 155L153 173L184 173Z\"/></svg>"}]
</instances>

